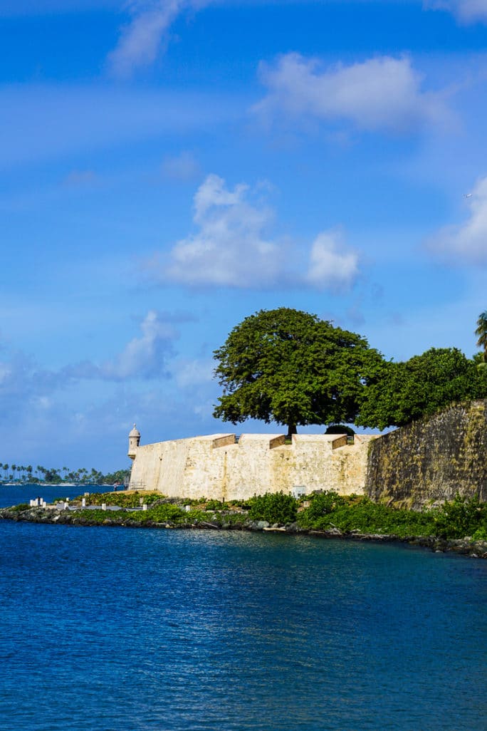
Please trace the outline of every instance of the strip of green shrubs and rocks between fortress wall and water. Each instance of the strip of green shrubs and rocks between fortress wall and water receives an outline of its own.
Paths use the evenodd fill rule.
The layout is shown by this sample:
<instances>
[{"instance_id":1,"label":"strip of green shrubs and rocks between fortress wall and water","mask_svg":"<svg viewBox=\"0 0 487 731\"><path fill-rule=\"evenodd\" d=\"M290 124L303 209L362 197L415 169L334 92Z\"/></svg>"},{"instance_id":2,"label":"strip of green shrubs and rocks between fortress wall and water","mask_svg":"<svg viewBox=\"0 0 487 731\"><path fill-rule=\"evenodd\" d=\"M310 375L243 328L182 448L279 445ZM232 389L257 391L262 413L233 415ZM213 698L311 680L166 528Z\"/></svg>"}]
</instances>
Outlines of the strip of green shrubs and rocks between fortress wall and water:
<instances>
[{"instance_id":1,"label":"strip of green shrubs and rocks between fortress wall and water","mask_svg":"<svg viewBox=\"0 0 487 731\"><path fill-rule=\"evenodd\" d=\"M0 510L2 520L126 528L281 531L325 538L400 541L487 558L487 504L456 496L441 507L402 510L364 496L318 491L302 499L266 493L246 501L179 500L160 493L91 493L46 507Z\"/></svg>"}]
</instances>

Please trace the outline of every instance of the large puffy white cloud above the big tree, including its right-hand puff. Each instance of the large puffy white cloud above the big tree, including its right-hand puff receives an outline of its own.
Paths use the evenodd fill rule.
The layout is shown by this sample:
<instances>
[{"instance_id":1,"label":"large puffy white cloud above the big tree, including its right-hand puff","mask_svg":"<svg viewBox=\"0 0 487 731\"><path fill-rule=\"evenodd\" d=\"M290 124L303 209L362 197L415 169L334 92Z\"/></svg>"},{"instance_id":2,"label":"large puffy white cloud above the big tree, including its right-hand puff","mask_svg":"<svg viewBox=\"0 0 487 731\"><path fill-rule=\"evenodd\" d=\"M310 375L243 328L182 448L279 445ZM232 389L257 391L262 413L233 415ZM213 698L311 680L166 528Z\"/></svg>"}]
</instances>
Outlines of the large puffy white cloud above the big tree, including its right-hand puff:
<instances>
[{"instance_id":1,"label":"large puffy white cloud above the big tree, including its right-hand puff","mask_svg":"<svg viewBox=\"0 0 487 731\"><path fill-rule=\"evenodd\" d=\"M178 241L162 264L155 257L151 276L189 286L248 289L353 284L357 254L340 251L336 234L323 232L308 247L271 238L274 213L260 192L243 183L228 189L223 178L208 175L194 197L196 233Z\"/></svg>"}]
</instances>

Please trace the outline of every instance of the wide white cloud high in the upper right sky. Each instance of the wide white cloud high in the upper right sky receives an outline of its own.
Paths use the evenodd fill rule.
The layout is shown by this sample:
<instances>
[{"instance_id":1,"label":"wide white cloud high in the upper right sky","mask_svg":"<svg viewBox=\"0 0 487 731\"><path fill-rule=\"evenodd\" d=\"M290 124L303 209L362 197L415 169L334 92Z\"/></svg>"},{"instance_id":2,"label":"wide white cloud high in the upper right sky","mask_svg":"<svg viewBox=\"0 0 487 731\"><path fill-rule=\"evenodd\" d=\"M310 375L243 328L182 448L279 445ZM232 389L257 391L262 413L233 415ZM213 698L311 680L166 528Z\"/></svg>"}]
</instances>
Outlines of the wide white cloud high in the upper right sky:
<instances>
[{"instance_id":1,"label":"wide white cloud high in the upper right sky","mask_svg":"<svg viewBox=\"0 0 487 731\"><path fill-rule=\"evenodd\" d=\"M261 64L269 94L255 107L267 120L341 120L358 129L410 132L440 121L445 107L438 94L421 90L409 58L379 56L363 63L323 68L299 53Z\"/></svg>"}]
</instances>

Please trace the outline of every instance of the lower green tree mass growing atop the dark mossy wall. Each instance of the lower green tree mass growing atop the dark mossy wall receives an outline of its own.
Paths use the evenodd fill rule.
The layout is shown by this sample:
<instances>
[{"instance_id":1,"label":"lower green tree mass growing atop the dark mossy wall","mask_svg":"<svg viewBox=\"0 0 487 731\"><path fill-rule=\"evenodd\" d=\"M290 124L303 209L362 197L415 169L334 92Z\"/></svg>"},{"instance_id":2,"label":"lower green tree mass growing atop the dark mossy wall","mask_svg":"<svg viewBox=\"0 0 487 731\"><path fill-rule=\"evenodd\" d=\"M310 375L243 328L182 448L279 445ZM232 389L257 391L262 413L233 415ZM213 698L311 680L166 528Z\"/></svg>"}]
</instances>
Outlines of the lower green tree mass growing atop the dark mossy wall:
<instances>
[{"instance_id":1,"label":"lower green tree mass growing atop the dark mossy wall","mask_svg":"<svg viewBox=\"0 0 487 731\"><path fill-rule=\"evenodd\" d=\"M458 348L431 348L403 363L387 363L364 390L356 423L402 426L453 403L487 397L487 374Z\"/></svg>"}]
</instances>

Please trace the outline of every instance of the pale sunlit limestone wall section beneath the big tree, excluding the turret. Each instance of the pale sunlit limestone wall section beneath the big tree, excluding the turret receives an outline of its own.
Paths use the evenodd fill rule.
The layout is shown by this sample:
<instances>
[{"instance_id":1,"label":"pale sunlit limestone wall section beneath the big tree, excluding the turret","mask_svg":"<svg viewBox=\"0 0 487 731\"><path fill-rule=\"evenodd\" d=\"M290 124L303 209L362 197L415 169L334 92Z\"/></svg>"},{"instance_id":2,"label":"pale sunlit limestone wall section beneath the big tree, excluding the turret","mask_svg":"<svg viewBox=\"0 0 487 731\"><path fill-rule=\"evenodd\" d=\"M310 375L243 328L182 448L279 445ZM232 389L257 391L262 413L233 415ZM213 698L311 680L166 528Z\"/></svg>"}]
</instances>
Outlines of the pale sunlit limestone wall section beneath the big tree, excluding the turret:
<instances>
[{"instance_id":1,"label":"pale sunlit limestone wall section beneath the big tree, excluding the turret","mask_svg":"<svg viewBox=\"0 0 487 731\"><path fill-rule=\"evenodd\" d=\"M372 436L212 434L137 448L132 488L166 496L246 499L266 492L336 490L363 493Z\"/></svg>"}]
</instances>

